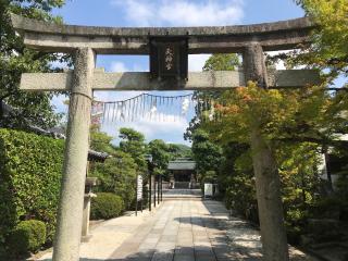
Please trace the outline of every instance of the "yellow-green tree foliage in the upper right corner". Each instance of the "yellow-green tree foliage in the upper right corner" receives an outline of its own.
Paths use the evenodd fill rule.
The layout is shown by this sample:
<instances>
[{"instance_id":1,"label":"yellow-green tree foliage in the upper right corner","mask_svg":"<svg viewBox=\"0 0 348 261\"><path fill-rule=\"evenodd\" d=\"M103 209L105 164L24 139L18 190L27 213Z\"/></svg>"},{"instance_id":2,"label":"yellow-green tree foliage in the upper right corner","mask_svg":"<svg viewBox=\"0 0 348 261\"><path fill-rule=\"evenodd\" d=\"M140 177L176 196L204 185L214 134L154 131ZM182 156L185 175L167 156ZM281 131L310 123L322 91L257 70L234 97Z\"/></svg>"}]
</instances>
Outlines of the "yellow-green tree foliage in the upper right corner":
<instances>
[{"instance_id":1,"label":"yellow-green tree foliage in the upper right corner","mask_svg":"<svg viewBox=\"0 0 348 261\"><path fill-rule=\"evenodd\" d=\"M324 84L347 87L348 75L348 18L346 0L294 0L315 24L311 45L303 45L289 54L282 53L288 67L306 65L321 70ZM333 15L334 14L334 15ZM337 86L335 79L341 77ZM343 82L343 84L340 84Z\"/></svg>"}]
</instances>

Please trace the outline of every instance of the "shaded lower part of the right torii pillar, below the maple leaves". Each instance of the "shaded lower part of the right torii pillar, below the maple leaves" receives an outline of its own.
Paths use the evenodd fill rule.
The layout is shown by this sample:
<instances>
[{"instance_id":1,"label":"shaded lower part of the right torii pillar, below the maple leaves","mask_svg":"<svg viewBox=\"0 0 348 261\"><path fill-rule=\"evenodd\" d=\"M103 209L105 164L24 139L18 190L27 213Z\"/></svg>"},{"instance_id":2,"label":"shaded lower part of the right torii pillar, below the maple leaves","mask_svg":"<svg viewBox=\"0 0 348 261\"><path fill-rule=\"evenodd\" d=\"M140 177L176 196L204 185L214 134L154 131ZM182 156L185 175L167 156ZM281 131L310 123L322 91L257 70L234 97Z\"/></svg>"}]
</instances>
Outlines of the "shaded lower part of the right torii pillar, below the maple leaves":
<instances>
[{"instance_id":1,"label":"shaded lower part of the right torii pillar, below the maple leaves","mask_svg":"<svg viewBox=\"0 0 348 261\"><path fill-rule=\"evenodd\" d=\"M252 165L257 184L263 260L287 261L279 174L271 149L256 126L251 133Z\"/></svg>"}]
</instances>

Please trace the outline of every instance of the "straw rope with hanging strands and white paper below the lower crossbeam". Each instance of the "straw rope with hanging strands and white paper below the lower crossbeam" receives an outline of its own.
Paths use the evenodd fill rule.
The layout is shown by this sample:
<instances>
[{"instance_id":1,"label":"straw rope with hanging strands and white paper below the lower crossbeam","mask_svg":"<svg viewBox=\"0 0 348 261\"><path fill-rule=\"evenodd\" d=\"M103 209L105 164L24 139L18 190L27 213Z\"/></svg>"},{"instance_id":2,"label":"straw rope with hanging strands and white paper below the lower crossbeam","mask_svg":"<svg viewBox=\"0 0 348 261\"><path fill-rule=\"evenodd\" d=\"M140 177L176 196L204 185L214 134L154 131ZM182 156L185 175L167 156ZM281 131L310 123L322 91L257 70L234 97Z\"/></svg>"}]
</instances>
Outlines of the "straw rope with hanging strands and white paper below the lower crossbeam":
<instances>
[{"instance_id":1,"label":"straw rope with hanging strands and white paper below the lower crossbeam","mask_svg":"<svg viewBox=\"0 0 348 261\"><path fill-rule=\"evenodd\" d=\"M122 101L94 101L92 122L95 124L114 122L135 122L149 120L167 122L186 119L192 110L200 121L216 120L214 101L194 94L184 96L157 96L141 94ZM209 115L209 119L207 115Z\"/></svg>"}]
</instances>

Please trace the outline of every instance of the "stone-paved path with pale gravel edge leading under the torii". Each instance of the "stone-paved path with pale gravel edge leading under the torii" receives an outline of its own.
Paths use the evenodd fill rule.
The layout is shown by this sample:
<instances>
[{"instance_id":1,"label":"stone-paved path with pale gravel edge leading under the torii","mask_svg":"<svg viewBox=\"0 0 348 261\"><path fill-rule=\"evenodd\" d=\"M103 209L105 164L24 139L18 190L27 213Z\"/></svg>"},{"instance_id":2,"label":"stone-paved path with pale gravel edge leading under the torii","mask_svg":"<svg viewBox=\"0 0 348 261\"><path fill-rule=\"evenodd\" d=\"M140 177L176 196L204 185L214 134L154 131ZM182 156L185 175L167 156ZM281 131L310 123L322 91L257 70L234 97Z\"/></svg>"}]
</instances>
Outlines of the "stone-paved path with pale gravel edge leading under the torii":
<instances>
[{"instance_id":1,"label":"stone-paved path with pale gravel edge leading under the torii","mask_svg":"<svg viewBox=\"0 0 348 261\"><path fill-rule=\"evenodd\" d=\"M92 231L92 240L82 245L82 260L261 260L259 232L243 220L229 217L228 211L217 201L169 200L163 201L154 214L121 219L117 225L115 219ZM139 222L129 226L132 219ZM128 226L132 229L127 229ZM124 229L129 233L120 237ZM101 232L108 236L103 237ZM108 248L100 245L102 240ZM95 246L96 241L99 247ZM311 260L298 250L290 252L291 260Z\"/></svg>"}]
</instances>

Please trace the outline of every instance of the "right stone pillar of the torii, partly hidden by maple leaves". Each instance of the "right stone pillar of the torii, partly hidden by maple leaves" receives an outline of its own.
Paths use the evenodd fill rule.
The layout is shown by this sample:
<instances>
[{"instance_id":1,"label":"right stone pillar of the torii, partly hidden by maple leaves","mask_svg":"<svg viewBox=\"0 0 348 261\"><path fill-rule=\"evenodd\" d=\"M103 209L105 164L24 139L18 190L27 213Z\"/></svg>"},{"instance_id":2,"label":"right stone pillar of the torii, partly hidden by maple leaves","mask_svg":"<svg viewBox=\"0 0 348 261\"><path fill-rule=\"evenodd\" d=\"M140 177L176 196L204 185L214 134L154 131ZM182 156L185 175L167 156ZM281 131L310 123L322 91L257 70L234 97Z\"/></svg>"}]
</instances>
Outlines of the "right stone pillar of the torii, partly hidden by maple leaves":
<instances>
[{"instance_id":1,"label":"right stone pillar of the torii, partly hidden by maple leaves","mask_svg":"<svg viewBox=\"0 0 348 261\"><path fill-rule=\"evenodd\" d=\"M262 47L252 44L245 49L246 82L254 80L268 88ZM250 145L256 176L263 260L288 261L288 246L284 226L279 174L271 148L261 135L259 115L254 115Z\"/></svg>"}]
</instances>

